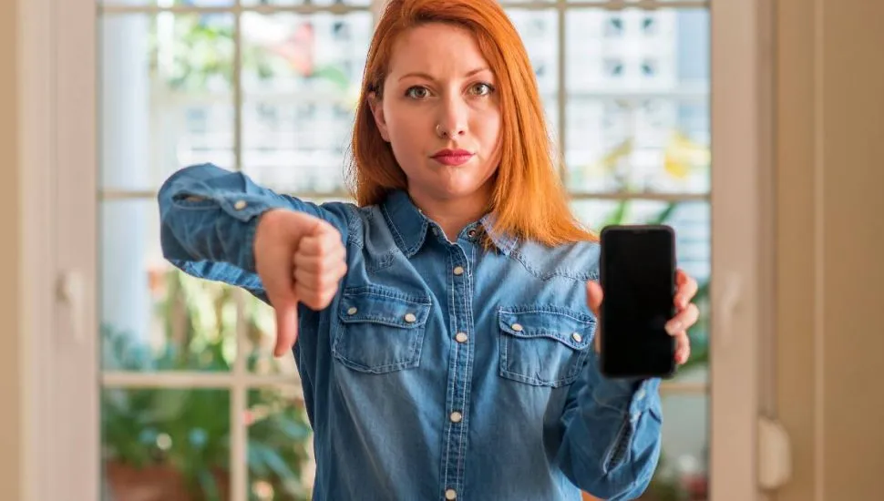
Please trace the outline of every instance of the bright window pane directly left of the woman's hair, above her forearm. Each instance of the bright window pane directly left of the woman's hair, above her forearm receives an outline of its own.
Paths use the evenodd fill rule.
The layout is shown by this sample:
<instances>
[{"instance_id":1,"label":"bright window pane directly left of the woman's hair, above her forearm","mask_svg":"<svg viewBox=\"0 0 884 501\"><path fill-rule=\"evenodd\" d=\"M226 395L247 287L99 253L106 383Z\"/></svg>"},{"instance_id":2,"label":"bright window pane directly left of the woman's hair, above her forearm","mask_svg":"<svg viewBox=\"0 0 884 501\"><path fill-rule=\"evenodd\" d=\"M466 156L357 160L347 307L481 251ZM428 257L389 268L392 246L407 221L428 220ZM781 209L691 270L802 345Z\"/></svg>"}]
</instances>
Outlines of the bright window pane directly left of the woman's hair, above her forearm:
<instances>
[{"instance_id":1,"label":"bright window pane directly left of the woman's hair, above her forearm","mask_svg":"<svg viewBox=\"0 0 884 501\"><path fill-rule=\"evenodd\" d=\"M367 11L243 14L243 165L253 179L342 189L371 30Z\"/></svg>"}]
</instances>

